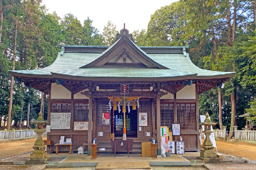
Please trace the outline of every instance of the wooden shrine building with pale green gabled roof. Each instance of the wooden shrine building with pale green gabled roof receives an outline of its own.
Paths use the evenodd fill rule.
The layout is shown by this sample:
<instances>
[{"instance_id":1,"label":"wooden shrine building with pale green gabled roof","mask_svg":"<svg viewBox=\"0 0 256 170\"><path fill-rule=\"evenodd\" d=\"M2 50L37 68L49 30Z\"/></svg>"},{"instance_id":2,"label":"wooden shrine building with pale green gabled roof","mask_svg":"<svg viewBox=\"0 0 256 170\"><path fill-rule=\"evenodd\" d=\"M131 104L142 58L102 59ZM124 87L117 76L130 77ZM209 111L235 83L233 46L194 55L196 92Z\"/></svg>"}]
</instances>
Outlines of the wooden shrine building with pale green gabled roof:
<instances>
[{"instance_id":1,"label":"wooden shrine building with pale green gabled roof","mask_svg":"<svg viewBox=\"0 0 256 170\"><path fill-rule=\"evenodd\" d=\"M9 72L48 95L47 139L71 138L72 151L87 143L88 155L93 139L108 146L111 133L138 144L154 138L160 155L160 127L172 132L172 124L180 125L172 140L181 136L185 151L200 151L198 95L235 75L198 68L187 46L138 47L125 28L111 46L59 47L52 65Z\"/></svg>"}]
</instances>

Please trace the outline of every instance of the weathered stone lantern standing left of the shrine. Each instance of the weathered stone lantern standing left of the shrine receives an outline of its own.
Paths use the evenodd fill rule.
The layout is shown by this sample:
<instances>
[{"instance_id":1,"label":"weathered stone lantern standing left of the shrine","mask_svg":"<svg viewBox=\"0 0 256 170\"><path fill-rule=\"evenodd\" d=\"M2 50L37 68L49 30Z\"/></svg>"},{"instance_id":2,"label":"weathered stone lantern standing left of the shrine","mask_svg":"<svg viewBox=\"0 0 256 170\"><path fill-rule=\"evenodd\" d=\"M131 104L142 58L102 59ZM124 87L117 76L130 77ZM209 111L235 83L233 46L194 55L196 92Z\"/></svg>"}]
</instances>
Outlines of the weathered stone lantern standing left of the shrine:
<instances>
[{"instance_id":1,"label":"weathered stone lantern standing left of the shrine","mask_svg":"<svg viewBox=\"0 0 256 170\"><path fill-rule=\"evenodd\" d=\"M32 124L36 124L35 133L37 134L37 139L33 146L34 151L30 154L30 159L27 160L27 164L44 164L44 161L47 161L47 152L45 152L45 145L42 139L42 134L46 131L44 129L44 124L48 122L44 121L42 117L42 112L38 113L38 119L31 121Z\"/></svg>"}]
</instances>

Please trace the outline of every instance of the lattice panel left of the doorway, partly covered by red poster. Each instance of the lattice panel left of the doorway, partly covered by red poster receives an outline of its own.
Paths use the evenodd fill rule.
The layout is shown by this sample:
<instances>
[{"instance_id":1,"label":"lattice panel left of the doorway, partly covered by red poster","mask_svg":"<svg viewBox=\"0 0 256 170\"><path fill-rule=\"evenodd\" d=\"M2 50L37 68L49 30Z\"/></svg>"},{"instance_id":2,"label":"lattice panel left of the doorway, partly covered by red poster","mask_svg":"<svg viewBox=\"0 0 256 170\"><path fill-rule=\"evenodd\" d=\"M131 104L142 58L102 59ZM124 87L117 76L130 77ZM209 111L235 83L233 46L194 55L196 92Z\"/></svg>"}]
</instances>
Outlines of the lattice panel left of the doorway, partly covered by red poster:
<instances>
[{"instance_id":1,"label":"lattice panel left of the doorway, partly covered by red poster","mask_svg":"<svg viewBox=\"0 0 256 170\"><path fill-rule=\"evenodd\" d=\"M109 102L109 100L99 100L97 102L97 115L96 115L97 116L97 125L103 125L102 124L102 115L104 113L110 113L108 102Z\"/></svg>"}]
</instances>

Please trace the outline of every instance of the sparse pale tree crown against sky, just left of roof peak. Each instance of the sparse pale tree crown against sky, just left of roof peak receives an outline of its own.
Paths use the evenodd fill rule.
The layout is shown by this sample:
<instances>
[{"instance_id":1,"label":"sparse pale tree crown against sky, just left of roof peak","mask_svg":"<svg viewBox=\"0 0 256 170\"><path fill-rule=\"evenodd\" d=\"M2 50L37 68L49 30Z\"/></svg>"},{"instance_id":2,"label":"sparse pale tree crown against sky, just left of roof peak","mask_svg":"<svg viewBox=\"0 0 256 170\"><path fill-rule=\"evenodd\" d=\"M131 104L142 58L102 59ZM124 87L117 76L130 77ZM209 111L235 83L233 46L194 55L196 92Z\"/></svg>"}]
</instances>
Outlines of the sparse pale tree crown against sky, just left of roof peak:
<instances>
[{"instance_id":1,"label":"sparse pale tree crown against sky, just left of roof peak","mask_svg":"<svg viewBox=\"0 0 256 170\"><path fill-rule=\"evenodd\" d=\"M118 33L116 29L116 25L108 21L107 25L103 28L103 43L105 45L112 45L112 43L116 40L116 34Z\"/></svg>"}]
</instances>

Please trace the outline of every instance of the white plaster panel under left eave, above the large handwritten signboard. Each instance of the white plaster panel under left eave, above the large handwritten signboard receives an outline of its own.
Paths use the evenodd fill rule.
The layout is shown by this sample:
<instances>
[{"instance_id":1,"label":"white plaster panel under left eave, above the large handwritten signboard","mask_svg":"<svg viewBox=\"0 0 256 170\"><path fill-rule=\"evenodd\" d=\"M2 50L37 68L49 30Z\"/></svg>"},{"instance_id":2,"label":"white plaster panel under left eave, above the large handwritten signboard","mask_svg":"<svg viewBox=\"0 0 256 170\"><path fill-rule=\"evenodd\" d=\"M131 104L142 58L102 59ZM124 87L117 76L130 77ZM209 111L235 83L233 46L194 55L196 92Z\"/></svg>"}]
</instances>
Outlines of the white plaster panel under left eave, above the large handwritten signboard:
<instances>
[{"instance_id":1,"label":"white plaster panel under left eave, above the large handwritten signboard","mask_svg":"<svg viewBox=\"0 0 256 170\"><path fill-rule=\"evenodd\" d=\"M71 99L71 92L62 85L52 83L51 99Z\"/></svg>"}]
</instances>

